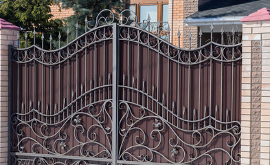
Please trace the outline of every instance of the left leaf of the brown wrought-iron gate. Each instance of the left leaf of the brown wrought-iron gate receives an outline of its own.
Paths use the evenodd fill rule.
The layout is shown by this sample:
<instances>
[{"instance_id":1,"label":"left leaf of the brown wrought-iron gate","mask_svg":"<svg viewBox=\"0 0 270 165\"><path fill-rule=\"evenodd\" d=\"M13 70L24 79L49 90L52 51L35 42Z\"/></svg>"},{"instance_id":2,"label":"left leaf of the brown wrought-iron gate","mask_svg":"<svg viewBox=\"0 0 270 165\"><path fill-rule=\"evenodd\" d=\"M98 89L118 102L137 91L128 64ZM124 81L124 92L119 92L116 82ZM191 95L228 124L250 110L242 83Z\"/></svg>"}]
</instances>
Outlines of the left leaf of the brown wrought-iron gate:
<instances>
[{"instance_id":1,"label":"left leaf of the brown wrought-iron gate","mask_svg":"<svg viewBox=\"0 0 270 165\"><path fill-rule=\"evenodd\" d=\"M111 30L88 32L59 51L12 50L12 153L55 158L48 163L62 155L64 162L112 158Z\"/></svg>"}]
</instances>

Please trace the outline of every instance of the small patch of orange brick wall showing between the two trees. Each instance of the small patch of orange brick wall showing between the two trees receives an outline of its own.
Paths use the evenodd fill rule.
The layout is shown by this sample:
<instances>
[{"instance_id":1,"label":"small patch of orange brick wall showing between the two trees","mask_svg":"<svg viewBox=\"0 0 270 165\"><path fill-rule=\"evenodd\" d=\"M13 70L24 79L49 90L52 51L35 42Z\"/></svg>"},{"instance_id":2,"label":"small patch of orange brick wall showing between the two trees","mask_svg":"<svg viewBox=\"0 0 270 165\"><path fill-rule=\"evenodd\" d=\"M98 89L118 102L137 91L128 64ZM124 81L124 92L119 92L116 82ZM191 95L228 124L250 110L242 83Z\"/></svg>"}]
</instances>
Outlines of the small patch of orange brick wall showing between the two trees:
<instances>
[{"instance_id":1,"label":"small patch of orange brick wall showing between the two trees","mask_svg":"<svg viewBox=\"0 0 270 165\"><path fill-rule=\"evenodd\" d=\"M74 11L72 10L72 8L63 9L60 6L62 6L61 3L60 5L51 6L51 13L54 15L52 19L65 19L66 17L69 17L72 14L74 14Z\"/></svg>"}]
</instances>

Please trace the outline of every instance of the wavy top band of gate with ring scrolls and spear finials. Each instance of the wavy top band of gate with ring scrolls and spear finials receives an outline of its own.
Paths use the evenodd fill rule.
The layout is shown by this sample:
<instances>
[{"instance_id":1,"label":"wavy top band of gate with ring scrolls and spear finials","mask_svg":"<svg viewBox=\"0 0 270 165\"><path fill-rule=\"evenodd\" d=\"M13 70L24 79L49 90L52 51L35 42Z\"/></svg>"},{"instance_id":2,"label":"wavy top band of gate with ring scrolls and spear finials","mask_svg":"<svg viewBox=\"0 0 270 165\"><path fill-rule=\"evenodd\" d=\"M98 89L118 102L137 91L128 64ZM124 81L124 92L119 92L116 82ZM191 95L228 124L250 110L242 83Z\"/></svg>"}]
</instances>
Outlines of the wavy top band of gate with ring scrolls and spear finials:
<instances>
[{"instance_id":1,"label":"wavy top band of gate with ring scrolls and spear finials","mask_svg":"<svg viewBox=\"0 0 270 165\"><path fill-rule=\"evenodd\" d=\"M104 16L104 13L109 13L109 15ZM182 65L196 65L210 59L227 63L239 61L242 58L242 43L224 45L223 35L225 33L223 30L221 30L222 43L216 43L212 40L213 26L211 27L211 40L209 43L199 45L199 47L194 49L185 49L172 45L172 43L159 38L159 35L161 34L161 23L155 23L157 26L157 32L149 32L150 19L142 21L142 24L139 25L137 15L132 10L123 10L116 19L115 14L111 10L106 9L102 10L98 14L94 25L92 25L93 21L88 21L86 18L85 33L77 36L74 41L67 43L67 45L60 47L59 36L60 48L56 50L44 50L43 47L39 47L36 44L25 48L12 47L12 61L16 61L16 63L30 63L31 61L37 61L43 65L58 65L59 63L63 63L67 61L67 59L72 58L78 52L82 52L86 47L102 41L112 40L112 27L114 22L118 22L120 27L120 40L131 41L149 47L151 50L161 54L162 56L170 58L171 61ZM78 34L78 23L76 24L76 30L76 34ZM165 30L163 30L163 32L166 32L170 38L169 25ZM36 32L34 31L33 34L35 40ZM235 43L234 29L232 30L232 34L232 43ZM203 34L200 33L199 35L201 43L201 36ZM67 36L69 38L69 30L67 30ZM191 38L192 36L189 35L189 37ZM42 36L42 43L40 45L43 45L43 41L44 36ZM49 41L52 44L51 37ZM25 42L27 42L26 33Z\"/></svg>"}]
</instances>

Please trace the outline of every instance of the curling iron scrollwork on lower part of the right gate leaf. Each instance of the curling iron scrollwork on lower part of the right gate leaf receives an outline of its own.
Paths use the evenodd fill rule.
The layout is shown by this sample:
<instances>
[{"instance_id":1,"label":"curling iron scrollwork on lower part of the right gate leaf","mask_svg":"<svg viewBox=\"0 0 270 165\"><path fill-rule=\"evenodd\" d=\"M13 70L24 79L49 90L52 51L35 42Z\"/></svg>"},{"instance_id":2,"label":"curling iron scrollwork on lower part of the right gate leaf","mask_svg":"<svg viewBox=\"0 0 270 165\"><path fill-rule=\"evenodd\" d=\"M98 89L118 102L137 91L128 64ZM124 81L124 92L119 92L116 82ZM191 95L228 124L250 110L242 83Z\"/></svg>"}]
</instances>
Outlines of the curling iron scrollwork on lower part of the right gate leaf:
<instances>
[{"instance_id":1,"label":"curling iron scrollwork on lower part of the right gate leaf","mask_svg":"<svg viewBox=\"0 0 270 165\"><path fill-rule=\"evenodd\" d=\"M213 164L213 155L216 152L227 154L227 164L240 162L239 153L234 153L234 149L240 142L240 122L221 122L211 115L201 120L184 120L178 118L179 123L196 124L197 129L186 129L177 127L171 121L159 116L155 111L139 106L140 113L135 115L132 107L139 105L120 102L120 109L124 112L119 122L122 143L120 145L119 159L136 162L155 162L161 159L166 163L191 164L199 159L205 159L205 164ZM170 111L166 109L165 111ZM138 116L139 115L139 116ZM171 114L173 116L173 114ZM212 122L209 122L212 120ZM146 123L153 121L153 129ZM220 129L212 123L218 122L226 126L227 129ZM207 123L198 128L198 124ZM195 128L195 127L194 127ZM124 133L123 133L124 132ZM168 137L164 137L167 135ZM187 136L184 138L183 136ZM190 138L192 137L190 141ZM220 138L226 138L225 148L213 148L212 144ZM132 144L130 144L132 142ZM168 147L170 155L164 147ZM208 149L206 149L208 148ZM140 151L140 153L136 151ZM237 158L238 157L238 158ZM209 161L210 159L210 161ZM200 162L201 164L202 162Z\"/></svg>"}]
</instances>

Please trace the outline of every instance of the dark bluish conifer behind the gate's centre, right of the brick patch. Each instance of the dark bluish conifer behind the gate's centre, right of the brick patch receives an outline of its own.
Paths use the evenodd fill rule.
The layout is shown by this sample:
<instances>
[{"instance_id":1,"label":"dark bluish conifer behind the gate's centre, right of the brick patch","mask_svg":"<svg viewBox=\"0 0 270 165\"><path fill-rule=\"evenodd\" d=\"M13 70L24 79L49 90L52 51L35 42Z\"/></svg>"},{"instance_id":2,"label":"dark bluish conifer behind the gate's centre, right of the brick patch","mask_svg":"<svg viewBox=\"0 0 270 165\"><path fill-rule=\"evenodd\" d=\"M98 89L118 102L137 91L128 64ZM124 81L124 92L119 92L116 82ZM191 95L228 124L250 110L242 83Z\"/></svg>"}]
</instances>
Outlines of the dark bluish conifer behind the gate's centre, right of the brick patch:
<instances>
[{"instance_id":1,"label":"dark bluish conifer behind the gate's centre, right of the brick patch","mask_svg":"<svg viewBox=\"0 0 270 165\"><path fill-rule=\"evenodd\" d=\"M65 30L69 27L71 40L76 38L77 21L79 25L78 35L80 35L85 32L85 17L94 25L95 19L100 11L109 9L119 14L125 6L122 0L56 0L56 2L58 4L62 2L63 8L72 8L75 12L74 15L65 20L67 23ZM109 14L109 12L105 12L104 14Z\"/></svg>"}]
</instances>

